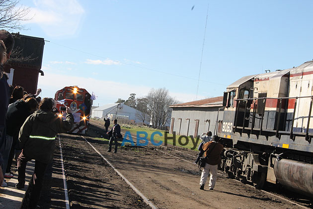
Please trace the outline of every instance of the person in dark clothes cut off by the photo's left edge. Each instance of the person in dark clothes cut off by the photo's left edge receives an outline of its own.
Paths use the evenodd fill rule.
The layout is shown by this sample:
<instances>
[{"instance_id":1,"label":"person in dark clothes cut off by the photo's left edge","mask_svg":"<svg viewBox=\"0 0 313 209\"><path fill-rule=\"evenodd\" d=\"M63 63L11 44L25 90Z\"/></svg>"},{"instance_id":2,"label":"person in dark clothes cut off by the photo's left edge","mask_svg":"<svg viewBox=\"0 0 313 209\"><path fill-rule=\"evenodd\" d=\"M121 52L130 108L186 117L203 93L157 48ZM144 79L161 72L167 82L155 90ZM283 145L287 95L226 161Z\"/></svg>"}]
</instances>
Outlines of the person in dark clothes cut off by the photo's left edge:
<instances>
[{"instance_id":1,"label":"person in dark clothes cut off by the photo's left edge","mask_svg":"<svg viewBox=\"0 0 313 209\"><path fill-rule=\"evenodd\" d=\"M6 30L0 30L0 186L7 186L3 180L5 170L2 170L3 158L7 158L6 151L9 143L6 143L5 115L10 99L7 76L4 74L3 64L10 58L14 46L14 38ZM5 155L4 155L5 154ZM7 160L7 159L6 159Z\"/></svg>"}]
</instances>

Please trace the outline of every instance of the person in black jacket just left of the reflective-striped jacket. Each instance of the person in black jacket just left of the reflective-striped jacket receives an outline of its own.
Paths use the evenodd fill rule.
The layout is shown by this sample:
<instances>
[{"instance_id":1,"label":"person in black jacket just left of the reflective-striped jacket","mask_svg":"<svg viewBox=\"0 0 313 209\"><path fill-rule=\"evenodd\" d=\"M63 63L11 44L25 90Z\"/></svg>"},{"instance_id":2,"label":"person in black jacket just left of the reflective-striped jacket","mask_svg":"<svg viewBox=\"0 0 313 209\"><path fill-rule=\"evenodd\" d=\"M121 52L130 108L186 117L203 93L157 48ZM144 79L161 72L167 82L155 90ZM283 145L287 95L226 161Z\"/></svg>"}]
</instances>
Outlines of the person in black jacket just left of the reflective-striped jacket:
<instances>
[{"instance_id":1,"label":"person in black jacket just left of the reflective-striped jacket","mask_svg":"<svg viewBox=\"0 0 313 209\"><path fill-rule=\"evenodd\" d=\"M15 146L18 143L18 133L26 118L31 115L38 107L35 98L28 98L26 101L18 100L11 104L6 113L6 139L11 141L11 149L9 150L8 159L4 161L3 168L6 168L5 177L10 178L13 175L10 173L12 160L15 153ZM5 159L4 159L5 160Z\"/></svg>"}]
</instances>

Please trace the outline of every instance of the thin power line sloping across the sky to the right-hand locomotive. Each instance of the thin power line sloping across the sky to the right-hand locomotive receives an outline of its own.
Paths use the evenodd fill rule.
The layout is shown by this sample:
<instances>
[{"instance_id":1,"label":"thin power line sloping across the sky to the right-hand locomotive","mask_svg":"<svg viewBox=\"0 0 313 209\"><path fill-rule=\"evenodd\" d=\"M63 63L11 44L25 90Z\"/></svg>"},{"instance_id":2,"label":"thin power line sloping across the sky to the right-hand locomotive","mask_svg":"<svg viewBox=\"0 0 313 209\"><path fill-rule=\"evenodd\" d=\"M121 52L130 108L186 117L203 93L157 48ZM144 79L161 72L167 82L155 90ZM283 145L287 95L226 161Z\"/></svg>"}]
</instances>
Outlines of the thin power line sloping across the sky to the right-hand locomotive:
<instances>
[{"instance_id":1,"label":"thin power line sloping across the sky to the right-hand locomotive","mask_svg":"<svg viewBox=\"0 0 313 209\"><path fill-rule=\"evenodd\" d=\"M45 40L47 41L47 40ZM68 48L68 49L71 49L71 50L74 50L74 51L78 51L78 52L81 52L81 53L84 53L84 54L89 54L89 55L92 55L92 56L95 56L95 57L99 57L99 58L102 58L102 59L107 59L107 57L103 57L103 56L99 56L99 55L96 55L96 54L92 54L92 53L89 53L89 52L85 52L85 51L81 51L79 49L75 49L75 48L72 48L72 47L69 47L69 46L65 46L65 45L62 45L62 44L58 44L58 43L54 43L54 42L51 42L51 41L47 41L49 43L52 43L52 44L55 44L55 45L58 45L58 46L62 46L62 47L65 47L65 48ZM190 77L186 77L186 76L181 76L181 75L177 75L177 74L173 74L173 73L168 73L168 72L163 72L163 71L159 71L159 70L154 70L154 69L151 69L151 68L146 68L146 67L142 67L142 66L139 66L139 65L134 65L134 64L130 64L130 63L125 63L125 62L121 62L121 61L118 61L118 60L114 60L115 62L118 62L118 63L121 63L121 64L124 64L124 65L129 65L129 66L133 66L133 67L136 67L136 68L141 68L141 69L145 69L145 70L149 70L149 71L154 71L154 72L158 72L158 73L163 73L163 74L167 74L167 75L171 75L171 76L176 76L176 77L180 77L180 78L185 78L185 79L190 79L190 80L195 80L195 81L201 81L201 82L206 82L206 83L210 83L210 84L216 84L216 85L221 85L221 86L227 86L225 84L219 84L219 83L215 83L215 82L210 82L210 81L204 81L204 80L200 80L200 79L194 79L194 78L190 78Z\"/></svg>"}]
</instances>

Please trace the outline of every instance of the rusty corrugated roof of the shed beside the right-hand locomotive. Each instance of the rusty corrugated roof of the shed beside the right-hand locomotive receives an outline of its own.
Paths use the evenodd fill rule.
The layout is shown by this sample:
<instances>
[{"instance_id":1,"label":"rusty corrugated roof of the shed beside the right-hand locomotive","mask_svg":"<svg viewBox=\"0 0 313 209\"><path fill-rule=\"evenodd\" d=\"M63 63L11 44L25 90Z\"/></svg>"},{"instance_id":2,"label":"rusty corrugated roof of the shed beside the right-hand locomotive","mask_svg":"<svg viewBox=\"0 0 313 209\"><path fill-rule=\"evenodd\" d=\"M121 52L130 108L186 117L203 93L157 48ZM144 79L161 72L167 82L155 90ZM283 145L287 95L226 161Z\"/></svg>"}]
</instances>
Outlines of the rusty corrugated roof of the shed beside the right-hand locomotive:
<instances>
[{"instance_id":1,"label":"rusty corrugated roof of the shed beside the right-hand locomotive","mask_svg":"<svg viewBox=\"0 0 313 209\"><path fill-rule=\"evenodd\" d=\"M223 104L223 96L221 97L213 97L204 100L197 100L188 103L181 104L172 104L169 107L209 107L209 106L222 106Z\"/></svg>"}]
</instances>

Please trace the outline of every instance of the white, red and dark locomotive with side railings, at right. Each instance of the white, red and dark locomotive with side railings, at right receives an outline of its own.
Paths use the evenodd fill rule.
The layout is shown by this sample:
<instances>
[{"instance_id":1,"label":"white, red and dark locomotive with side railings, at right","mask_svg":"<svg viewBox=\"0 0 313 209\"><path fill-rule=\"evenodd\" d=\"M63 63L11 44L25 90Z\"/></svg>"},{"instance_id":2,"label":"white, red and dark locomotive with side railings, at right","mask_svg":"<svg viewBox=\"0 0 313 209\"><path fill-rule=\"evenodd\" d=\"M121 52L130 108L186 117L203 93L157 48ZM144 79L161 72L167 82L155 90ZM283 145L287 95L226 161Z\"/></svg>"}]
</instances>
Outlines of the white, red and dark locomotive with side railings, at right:
<instances>
[{"instance_id":1,"label":"white, red and dark locomotive with side railings, at right","mask_svg":"<svg viewBox=\"0 0 313 209\"><path fill-rule=\"evenodd\" d=\"M313 61L229 85L220 169L256 188L267 181L313 197L312 104Z\"/></svg>"}]
</instances>

